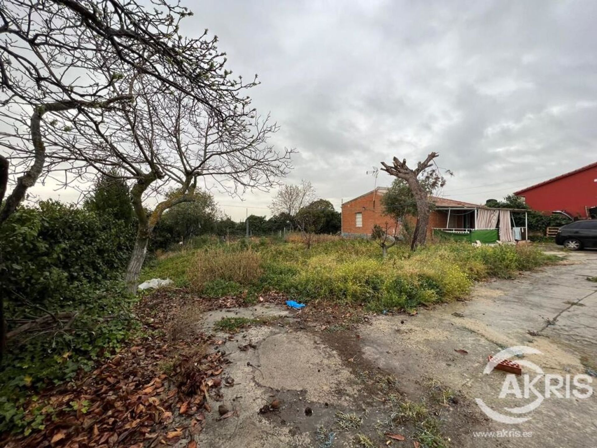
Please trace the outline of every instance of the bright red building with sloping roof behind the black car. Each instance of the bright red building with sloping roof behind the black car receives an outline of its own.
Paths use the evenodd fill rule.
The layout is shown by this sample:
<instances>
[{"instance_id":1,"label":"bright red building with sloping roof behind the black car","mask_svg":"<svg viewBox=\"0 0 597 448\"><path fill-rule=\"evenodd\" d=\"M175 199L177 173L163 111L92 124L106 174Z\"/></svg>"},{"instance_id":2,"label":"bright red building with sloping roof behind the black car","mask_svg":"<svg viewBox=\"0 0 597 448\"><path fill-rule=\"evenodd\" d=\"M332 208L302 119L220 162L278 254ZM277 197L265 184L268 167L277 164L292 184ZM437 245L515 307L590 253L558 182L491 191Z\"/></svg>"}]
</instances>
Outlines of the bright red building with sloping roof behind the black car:
<instances>
[{"instance_id":1,"label":"bright red building with sloping roof behind the black car","mask_svg":"<svg viewBox=\"0 0 597 448\"><path fill-rule=\"evenodd\" d=\"M597 214L597 162L515 192L533 210L565 211L573 217Z\"/></svg>"}]
</instances>

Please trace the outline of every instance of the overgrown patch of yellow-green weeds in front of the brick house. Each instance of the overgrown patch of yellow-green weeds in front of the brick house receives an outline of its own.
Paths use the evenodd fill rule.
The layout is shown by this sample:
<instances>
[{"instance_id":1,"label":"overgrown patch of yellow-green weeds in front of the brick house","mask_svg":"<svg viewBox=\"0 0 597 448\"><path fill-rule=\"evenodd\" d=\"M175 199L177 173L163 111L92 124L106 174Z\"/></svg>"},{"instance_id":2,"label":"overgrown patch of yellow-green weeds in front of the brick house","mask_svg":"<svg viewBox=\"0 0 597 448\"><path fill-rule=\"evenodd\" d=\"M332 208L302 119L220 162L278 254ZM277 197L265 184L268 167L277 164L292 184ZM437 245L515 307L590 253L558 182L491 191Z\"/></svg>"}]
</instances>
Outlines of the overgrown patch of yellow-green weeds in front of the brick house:
<instances>
[{"instance_id":1,"label":"overgrown patch of yellow-green weeds in front of the brick house","mask_svg":"<svg viewBox=\"0 0 597 448\"><path fill-rule=\"evenodd\" d=\"M553 260L533 246L430 244L412 252L397 246L389 256L370 240L324 238L310 249L288 241L242 241L208 246L162 260L157 272L180 274L206 296L279 291L309 302L328 300L372 311L414 309L466 297L478 280L510 278Z\"/></svg>"}]
</instances>

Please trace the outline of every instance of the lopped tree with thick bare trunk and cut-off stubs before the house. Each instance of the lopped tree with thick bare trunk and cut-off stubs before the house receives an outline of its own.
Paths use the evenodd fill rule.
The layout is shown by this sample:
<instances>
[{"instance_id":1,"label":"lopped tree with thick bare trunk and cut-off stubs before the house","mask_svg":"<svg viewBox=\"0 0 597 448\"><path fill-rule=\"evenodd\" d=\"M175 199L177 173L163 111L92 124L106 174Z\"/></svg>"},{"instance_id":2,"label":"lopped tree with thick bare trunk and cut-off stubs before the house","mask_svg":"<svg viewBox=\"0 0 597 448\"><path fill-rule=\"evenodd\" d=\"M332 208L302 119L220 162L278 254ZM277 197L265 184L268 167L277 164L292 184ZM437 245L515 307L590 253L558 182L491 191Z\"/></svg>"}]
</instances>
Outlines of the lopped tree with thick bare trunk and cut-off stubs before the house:
<instances>
[{"instance_id":1,"label":"lopped tree with thick bare trunk and cut-off stubs before the house","mask_svg":"<svg viewBox=\"0 0 597 448\"><path fill-rule=\"evenodd\" d=\"M419 174L423 173L423 171L431 168L434 165L433 159L438 156L439 154L436 152L431 152L429 155L427 155L427 158L424 159L424 161L418 162L417 167L414 169L408 167L406 159L400 161L398 158L394 157L392 165L388 165L386 162L381 162L383 167L381 170L386 171L386 173L390 174L390 176L395 176L398 177L398 179L405 180L408 183L408 187L410 188L411 192L413 193L414 201L417 205L417 225L415 226L413 240L411 241L412 250L415 250L418 246L425 244L430 214L429 196L427 193L428 189L426 189L424 185L421 185L418 176ZM435 182L437 182L440 186L443 186L445 184L445 179L439 173L439 168L437 165L435 165L434 170Z\"/></svg>"}]
</instances>

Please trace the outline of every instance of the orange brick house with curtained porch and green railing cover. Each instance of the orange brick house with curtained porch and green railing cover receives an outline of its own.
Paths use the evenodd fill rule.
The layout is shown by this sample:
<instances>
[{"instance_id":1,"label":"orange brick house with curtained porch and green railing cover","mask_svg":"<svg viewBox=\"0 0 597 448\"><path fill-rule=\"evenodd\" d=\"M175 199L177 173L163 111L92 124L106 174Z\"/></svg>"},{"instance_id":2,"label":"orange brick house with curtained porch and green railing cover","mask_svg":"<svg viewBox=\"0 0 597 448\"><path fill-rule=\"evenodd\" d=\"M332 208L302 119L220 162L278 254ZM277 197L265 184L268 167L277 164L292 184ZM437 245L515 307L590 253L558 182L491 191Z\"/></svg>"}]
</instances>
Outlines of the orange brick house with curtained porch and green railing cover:
<instances>
[{"instance_id":1,"label":"orange brick house with curtained porch and green railing cover","mask_svg":"<svg viewBox=\"0 0 597 448\"><path fill-rule=\"evenodd\" d=\"M382 228L388 226L388 231L393 234L401 232L401 223L396 223L392 217L384 213L381 197L387 192L387 188L378 187L359 197L343 202L342 204L342 235L346 237L367 237L371 235L374 225ZM526 213L525 210L513 208L489 208L484 205L472 204L470 202L455 201L446 198L432 196L430 200L435 205L429 216L427 236L430 238L454 236L458 238L481 238L486 243L493 241L510 241L527 239L526 215L524 222L512 222L511 211ZM415 218L409 217L414 225ZM502 229L503 228L503 229ZM523 230L524 229L524 230ZM487 231L491 235L480 237L479 232ZM475 234L475 235L473 235ZM473 240L475 241L475 240Z\"/></svg>"}]
</instances>

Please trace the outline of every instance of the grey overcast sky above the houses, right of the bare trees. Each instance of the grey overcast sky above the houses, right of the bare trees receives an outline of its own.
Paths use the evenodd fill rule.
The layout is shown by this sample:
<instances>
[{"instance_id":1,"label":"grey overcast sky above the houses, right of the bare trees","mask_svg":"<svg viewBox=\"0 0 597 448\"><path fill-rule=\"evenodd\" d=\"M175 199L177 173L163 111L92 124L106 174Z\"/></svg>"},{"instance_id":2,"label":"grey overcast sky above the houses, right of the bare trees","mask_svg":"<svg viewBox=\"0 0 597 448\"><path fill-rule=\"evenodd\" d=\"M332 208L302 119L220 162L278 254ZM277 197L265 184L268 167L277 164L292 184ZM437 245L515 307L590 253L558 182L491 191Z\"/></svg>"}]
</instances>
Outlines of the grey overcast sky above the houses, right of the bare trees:
<instances>
[{"instance_id":1,"label":"grey overcast sky above the houses, right of the bare trees","mask_svg":"<svg viewBox=\"0 0 597 448\"><path fill-rule=\"evenodd\" d=\"M259 74L254 106L298 150L286 181L336 207L393 156L439 152L454 171L441 195L470 202L596 160L595 1L183 3L184 33L208 28L236 75ZM239 219L269 214L272 194L216 197Z\"/></svg>"}]
</instances>

